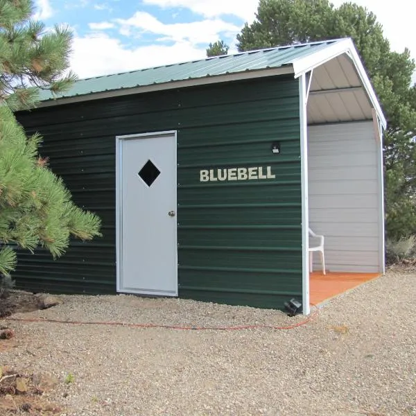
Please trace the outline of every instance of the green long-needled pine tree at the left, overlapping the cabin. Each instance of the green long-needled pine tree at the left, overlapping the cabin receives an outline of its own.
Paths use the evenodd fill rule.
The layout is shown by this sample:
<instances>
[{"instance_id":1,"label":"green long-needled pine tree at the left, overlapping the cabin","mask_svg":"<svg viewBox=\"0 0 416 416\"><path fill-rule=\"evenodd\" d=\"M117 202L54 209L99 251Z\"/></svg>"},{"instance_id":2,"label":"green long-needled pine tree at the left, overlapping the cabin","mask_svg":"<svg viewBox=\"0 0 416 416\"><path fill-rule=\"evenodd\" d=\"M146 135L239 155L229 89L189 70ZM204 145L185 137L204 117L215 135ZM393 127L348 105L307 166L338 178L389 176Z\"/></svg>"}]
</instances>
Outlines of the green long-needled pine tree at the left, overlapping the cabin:
<instances>
[{"instance_id":1,"label":"green long-needled pine tree at the left, overlapping the cabin","mask_svg":"<svg viewBox=\"0 0 416 416\"><path fill-rule=\"evenodd\" d=\"M76 77L72 34L33 21L32 0L0 0L0 273L16 266L15 248L44 247L59 257L74 236L101 235L101 220L76 207L62 179L40 157L40 135L27 137L13 111L34 107L40 89L58 93ZM66 73L66 74L65 74Z\"/></svg>"}]
</instances>

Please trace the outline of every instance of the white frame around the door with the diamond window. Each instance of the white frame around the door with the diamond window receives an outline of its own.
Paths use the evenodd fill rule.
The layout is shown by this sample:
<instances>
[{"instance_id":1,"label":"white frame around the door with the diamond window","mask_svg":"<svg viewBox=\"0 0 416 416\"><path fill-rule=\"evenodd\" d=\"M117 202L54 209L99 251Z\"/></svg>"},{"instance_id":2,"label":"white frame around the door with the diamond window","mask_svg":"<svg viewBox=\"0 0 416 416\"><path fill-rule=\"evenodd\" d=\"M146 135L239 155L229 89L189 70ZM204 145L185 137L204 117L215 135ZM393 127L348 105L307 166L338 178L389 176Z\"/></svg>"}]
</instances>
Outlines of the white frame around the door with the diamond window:
<instances>
[{"instance_id":1,"label":"white frame around the door with the diamond window","mask_svg":"<svg viewBox=\"0 0 416 416\"><path fill-rule=\"evenodd\" d=\"M123 280L123 264L122 264L122 252L123 252L123 175L121 171L121 163L123 157L123 140L128 139L146 139L146 137L152 136L163 136L163 135L173 135L175 137L175 145L177 145L177 131L176 130L164 130L160 132L148 132L148 133L138 133L136 135L122 135L116 136L116 291L128 293L128 291L122 290L123 285L121 284ZM175 166L177 166L177 153L175 152ZM175 169L175 179L176 179L177 170ZM175 182L177 182L175 180ZM175 207L177 206L177 193L175 192ZM177 223L177 220L175 220ZM177 245L175 250L175 280L177 283ZM133 293L133 292L131 292ZM134 292L137 293L137 292ZM176 292L172 296L177 296L177 284ZM165 295L166 296L166 295Z\"/></svg>"}]
</instances>

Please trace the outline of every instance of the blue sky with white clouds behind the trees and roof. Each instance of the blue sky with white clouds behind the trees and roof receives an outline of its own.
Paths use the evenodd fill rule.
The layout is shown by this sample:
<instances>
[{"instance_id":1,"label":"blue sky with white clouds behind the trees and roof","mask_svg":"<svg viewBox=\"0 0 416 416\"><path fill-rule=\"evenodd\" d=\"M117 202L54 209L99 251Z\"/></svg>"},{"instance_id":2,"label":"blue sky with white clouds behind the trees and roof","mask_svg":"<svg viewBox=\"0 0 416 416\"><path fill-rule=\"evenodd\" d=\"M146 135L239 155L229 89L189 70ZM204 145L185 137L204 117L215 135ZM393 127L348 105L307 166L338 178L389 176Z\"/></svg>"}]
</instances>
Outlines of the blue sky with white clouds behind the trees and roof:
<instances>
[{"instance_id":1,"label":"blue sky with white clouds behind the trees and roof","mask_svg":"<svg viewBox=\"0 0 416 416\"><path fill-rule=\"evenodd\" d=\"M344 1L333 0L334 6ZM378 17L393 50L416 60L416 2L355 0ZM202 59L209 42L236 52L236 35L251 23L258 0L35 0L46 26L73 29L71 69L80 78ZM416 78L415 78L416 80Z\"/></svg>"}]
</instances>

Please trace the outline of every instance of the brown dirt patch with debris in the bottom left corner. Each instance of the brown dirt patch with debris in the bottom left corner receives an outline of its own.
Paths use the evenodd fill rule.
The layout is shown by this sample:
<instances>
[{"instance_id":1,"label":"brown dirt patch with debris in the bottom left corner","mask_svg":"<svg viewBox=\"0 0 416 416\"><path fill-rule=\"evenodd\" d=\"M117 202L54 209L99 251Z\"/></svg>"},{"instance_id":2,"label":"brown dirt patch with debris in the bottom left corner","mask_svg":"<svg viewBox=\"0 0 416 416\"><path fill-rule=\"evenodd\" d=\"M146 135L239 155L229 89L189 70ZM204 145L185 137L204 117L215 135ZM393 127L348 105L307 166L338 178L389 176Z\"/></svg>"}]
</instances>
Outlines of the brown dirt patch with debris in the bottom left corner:
<instances>
[{"instance_id":1,"label":"brown dirt patch with debris in the bottom left corner","mask_svg":"<svg viewBox=\"0 0 416 416\"><path fill-rule=\"evenodd\" d=\"M42 397L57 382L48 374L19 374L0 367L0 415L57 415L61 408Z\"/></svg>"}]
</instances>

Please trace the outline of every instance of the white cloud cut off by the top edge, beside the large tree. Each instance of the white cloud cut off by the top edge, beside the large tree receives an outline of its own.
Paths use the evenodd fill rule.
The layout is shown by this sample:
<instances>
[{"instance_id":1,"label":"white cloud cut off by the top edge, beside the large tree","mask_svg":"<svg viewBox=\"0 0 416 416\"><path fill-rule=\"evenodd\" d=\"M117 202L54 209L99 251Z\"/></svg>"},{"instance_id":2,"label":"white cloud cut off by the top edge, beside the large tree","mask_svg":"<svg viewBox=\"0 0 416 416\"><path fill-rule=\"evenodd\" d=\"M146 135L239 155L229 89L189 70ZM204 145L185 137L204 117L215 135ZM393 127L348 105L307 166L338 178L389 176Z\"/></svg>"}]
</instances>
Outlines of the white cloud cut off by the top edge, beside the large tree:
<instances>
[{"instance_id":1,"label":"white cloud cut off by the top edge, beside the large tree","mask_svg":"<svg viewBox=\"0 0 416 416\"><path fill-rule=\"evenodd\" d=\"M251 23L259 0L143 0L143 3L162 8L188 8L205 17L234 15Z\"/></svg>"}]
</instances>

